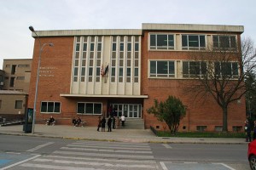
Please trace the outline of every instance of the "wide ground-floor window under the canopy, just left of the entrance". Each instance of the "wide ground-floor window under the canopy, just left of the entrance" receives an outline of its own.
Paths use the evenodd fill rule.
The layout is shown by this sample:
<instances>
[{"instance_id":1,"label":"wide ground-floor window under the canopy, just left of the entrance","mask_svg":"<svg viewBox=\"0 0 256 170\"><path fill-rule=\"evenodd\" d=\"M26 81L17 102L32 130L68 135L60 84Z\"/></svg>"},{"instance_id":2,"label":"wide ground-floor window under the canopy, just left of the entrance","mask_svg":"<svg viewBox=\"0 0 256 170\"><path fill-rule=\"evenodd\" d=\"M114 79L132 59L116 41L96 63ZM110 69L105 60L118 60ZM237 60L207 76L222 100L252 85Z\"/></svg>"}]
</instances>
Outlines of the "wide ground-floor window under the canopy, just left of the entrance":
<instances>
[{"instance_id":1,"label":"wide ground-floor window under the canopy, just left of the entrance","mask_svg":"<svg viewBox=\"0 0 256 170\"><path fill-rule=\"evenodd\" d=\"M78 103L77 112L79 114L101 115L102 103Z\"/></svg>"}]
</instances>

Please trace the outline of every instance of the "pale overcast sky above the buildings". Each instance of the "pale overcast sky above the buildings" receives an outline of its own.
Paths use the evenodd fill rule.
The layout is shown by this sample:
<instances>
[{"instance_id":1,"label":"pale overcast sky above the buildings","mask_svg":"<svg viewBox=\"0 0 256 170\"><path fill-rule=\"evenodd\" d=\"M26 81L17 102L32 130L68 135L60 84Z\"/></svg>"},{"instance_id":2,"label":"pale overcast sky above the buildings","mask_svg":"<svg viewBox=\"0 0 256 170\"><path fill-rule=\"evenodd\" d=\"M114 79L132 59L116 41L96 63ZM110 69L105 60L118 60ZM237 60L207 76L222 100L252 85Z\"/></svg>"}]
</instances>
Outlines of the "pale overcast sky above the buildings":
<instances>
[{"instance_id":1,"label":"pale overcast sky above the buildings","mask_svg":"<svg viewBox=\"0 0 256 170\"><path fill-rule=\"evenodd\" d=\"M3 59L32 59L37 31L141 29L142 23L244 26L256 44L255 0L0 0Z\"/></svg>"}]
</instances>

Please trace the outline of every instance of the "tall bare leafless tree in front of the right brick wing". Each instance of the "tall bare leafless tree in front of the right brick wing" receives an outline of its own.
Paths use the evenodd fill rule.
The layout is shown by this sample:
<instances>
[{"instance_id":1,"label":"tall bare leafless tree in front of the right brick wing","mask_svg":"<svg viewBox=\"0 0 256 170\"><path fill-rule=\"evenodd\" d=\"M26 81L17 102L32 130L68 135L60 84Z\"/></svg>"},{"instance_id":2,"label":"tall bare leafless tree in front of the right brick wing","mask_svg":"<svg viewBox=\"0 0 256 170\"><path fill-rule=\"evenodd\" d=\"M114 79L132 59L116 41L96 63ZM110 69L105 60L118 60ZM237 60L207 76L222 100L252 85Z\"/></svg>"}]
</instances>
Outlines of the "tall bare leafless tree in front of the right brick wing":
<instances>
[{"instance_id":1,"label":"tall bare leafless tree in front of the right brick wing","mask_svg":"<svg viewBox=\"0 0 256 170\"><path fill-rule=\"evenodd\" d=\"M236 42L235 36L213 37L213 44L204 52L191 52L183 72L194 78L193 86L187 89L193 95L212 98L223 112L223 131L228 131L228 106L247 93L245 78L255 69L256 51L250 38Z\"/></svg>"}]
</instances>

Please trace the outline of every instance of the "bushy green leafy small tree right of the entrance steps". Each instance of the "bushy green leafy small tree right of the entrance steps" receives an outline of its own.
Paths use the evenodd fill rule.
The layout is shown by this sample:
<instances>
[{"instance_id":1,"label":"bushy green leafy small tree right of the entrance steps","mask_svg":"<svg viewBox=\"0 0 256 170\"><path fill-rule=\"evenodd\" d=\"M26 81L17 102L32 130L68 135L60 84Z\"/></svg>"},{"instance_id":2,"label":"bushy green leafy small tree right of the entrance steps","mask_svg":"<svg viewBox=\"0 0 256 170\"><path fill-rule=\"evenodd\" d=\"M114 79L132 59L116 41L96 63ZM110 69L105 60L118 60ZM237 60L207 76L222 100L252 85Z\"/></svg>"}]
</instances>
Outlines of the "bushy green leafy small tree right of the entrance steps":
<instances>
[{"instance_id":1,"label":"bushy green leafy small tree right of the entrance steps","mask_svg":"<svg viewBox=\"0 0 256 170\"><path fill-rule=\"evenodd\" d=\"M164 102L154 99L154 106L147 111L149 114L154 114L160 122L166 122L171 134L177 133L179 122L186 115L185 105L173 96L169 96Z\"/></svg>"}]
</instances>

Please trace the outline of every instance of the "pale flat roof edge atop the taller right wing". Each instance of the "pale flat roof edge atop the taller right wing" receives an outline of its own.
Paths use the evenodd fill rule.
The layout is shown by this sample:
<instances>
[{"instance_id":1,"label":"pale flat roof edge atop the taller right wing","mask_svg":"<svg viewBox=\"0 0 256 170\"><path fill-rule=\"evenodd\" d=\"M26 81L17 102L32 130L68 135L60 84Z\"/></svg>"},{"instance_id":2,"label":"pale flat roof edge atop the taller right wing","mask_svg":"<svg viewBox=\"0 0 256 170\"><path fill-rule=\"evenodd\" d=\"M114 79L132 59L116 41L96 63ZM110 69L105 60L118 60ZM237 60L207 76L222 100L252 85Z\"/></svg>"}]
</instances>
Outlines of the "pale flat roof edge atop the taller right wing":
<instances>
[{"instance_id":1,"label":"pale flat roof edge atop the taller right wing","mask_svg":"<svg viewBox=\"0 0 256 170\"><path fill-rule=\"evenodd\" d=\"M199 25L199 24L150 24L143 23L143 30L168 30L168 31L244 31L244 26L226 25Z\"/></svg>"}]
</instances>

